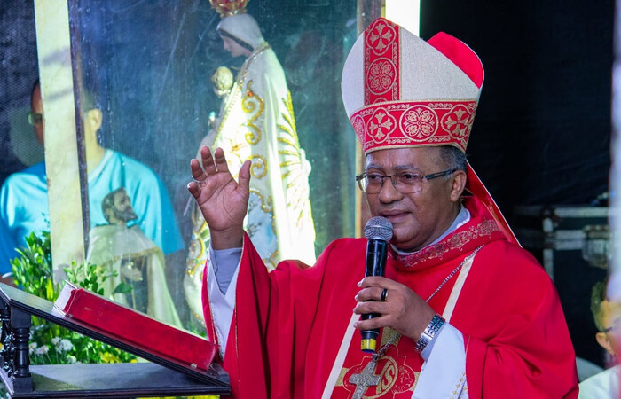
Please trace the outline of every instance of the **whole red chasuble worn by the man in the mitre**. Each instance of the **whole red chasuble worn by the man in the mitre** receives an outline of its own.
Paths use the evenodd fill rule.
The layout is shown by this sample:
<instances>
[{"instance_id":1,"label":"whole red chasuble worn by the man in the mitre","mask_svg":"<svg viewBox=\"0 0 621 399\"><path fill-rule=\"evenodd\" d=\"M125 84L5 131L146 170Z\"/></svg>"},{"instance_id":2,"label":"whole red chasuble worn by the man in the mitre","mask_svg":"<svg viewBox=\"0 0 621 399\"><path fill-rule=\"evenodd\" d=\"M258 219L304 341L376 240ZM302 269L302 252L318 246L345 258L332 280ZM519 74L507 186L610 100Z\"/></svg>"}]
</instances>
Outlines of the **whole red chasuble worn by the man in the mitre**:
<instances>
[{"instance_id":1,"label":"whole red chasuble worn by the man in the mitre","mask_svg":"<svg viewBox=\"0 0 621 399\"><path fill-rule=\"evenodd\" d=\"M468 396L576 397L574 350L552 281L531 254L507 242L481 202L464 205L468 223L418 253L389 256L386 277L427 299L480 248L468 273L459 270L428 302L439 314L450 309L447 321L463 334ZM351 376L371 360L351 327L365 258L366 239L337 239L314 267L287 261L268 273L246 237L223 362L233 395L353 395ZM203 304L216 337L206 283ZM378 383L365 397L413 395L423 360L413 340L393 337L389 329L381 333L387 347L374 370Z\"/></svg>"}]
</instances>

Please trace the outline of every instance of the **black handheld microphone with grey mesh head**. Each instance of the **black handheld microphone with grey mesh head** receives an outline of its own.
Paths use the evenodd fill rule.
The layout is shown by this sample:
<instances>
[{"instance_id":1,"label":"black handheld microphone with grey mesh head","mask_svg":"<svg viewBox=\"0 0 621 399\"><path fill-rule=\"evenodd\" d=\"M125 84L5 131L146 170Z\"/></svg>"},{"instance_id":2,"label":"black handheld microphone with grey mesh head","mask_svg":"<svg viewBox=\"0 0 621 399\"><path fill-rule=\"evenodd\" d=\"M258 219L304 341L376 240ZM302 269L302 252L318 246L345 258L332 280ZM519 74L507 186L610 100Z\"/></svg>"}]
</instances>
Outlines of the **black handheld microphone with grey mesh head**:
<instances>
[{"instance_id":1,"label":"black handheld microphone with grey mesh head","mask_svg":"<svg viewBox=\"0 0 621 399\"><path fill-rule=\"evenodd\" d=\"M366 274L368 276L383 276L388 255L388 243L392 239L392 223L382 216L375 216L369 219L365 225L366 243ZM364 314L362 320L373 317L380 317L377 313ZM362 343L360 348L364 352L374 352L377 347L377 337L380 329L363 330Z\"/></svg>"}]
</instances>

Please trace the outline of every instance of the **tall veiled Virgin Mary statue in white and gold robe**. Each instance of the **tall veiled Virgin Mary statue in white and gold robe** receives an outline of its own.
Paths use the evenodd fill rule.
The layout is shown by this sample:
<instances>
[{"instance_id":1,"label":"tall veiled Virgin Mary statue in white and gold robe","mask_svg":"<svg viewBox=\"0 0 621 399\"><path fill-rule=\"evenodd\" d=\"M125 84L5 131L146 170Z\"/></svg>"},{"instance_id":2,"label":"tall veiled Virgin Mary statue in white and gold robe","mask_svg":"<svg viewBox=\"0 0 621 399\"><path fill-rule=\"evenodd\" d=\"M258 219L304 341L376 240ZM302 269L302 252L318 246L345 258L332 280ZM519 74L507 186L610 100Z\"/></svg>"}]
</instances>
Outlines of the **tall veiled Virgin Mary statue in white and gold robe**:
<instances>
[{"instance_id":1,"label":"tall veiled Virgin Mary statue in white and gold robe","mask_svg":"<svg viewBox=\"0 0 621 399\"><path fill-rule=\"evenodd\" d=\"M268 269L289 258L313 264L311 165L298 140L285 73L251 15L239 9L232 15L218 12L223 16L217 31L224 49L246 59L223 98L218 123L207 136L213 138L202 144L223 148L232 173L239 172L245 160L252 160L245 228ZM200 320L201 275L208 248L208 226L197 211L184 287L190 309Z\"/></svg>"}]
</instances>

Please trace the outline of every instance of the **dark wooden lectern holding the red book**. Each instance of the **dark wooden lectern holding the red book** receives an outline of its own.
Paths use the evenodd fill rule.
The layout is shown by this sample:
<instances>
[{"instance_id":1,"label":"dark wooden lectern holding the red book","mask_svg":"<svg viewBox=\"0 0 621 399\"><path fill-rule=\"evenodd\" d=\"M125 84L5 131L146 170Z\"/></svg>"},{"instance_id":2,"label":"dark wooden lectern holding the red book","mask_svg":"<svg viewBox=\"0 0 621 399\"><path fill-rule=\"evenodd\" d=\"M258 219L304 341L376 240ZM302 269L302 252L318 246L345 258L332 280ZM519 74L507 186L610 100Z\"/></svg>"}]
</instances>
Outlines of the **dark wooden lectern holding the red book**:
<instances>
[{"instance_id":1,"label":"dark wooden lectern holding the red book","mask_svg":"<svg viewBox=\"0 0 621 399\"><path fill-rule=\"evenodd\" d=\"M30 366L28 344L32 316L120 348L148 362L126 364L51 364ZM2 349L0 377L11 398L134 398L230 395L228 374L218 364L195 370L55 311L54 304L0 283Z\"/></svg>"}]
</instances>

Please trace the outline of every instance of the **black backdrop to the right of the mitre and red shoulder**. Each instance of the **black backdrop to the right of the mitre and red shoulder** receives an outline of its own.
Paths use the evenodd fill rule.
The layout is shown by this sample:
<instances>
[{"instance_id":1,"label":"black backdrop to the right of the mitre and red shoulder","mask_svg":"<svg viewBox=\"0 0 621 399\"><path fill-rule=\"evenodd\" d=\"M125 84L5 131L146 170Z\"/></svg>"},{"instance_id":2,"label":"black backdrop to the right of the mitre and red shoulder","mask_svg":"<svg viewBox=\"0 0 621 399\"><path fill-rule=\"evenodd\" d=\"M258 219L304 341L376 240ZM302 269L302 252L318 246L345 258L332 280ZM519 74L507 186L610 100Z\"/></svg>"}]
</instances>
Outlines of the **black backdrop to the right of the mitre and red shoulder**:
<instances>
[{"instance_id":1,"label":"black backdrop to the right of the mitre and red shoulder","mask_svg":"<svg viewBox=\"0 0 621 399\"><path fill-rule=\"evenodd\" d=\"M595 199L609 183L614 15L612 0L421 2L422 38L444 31L483 61L468 160L516 233L543 236L544 219L553 234L606 223L558 218L554 209L605 205ZM534 215L523 215L524 206ZM540 262L544 246L562 244L517 235ZM551 253L576 354L604 365L589 302L606 270L589 266L579 249Z\"/></svg>"}]
</instances>

